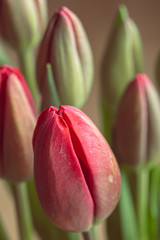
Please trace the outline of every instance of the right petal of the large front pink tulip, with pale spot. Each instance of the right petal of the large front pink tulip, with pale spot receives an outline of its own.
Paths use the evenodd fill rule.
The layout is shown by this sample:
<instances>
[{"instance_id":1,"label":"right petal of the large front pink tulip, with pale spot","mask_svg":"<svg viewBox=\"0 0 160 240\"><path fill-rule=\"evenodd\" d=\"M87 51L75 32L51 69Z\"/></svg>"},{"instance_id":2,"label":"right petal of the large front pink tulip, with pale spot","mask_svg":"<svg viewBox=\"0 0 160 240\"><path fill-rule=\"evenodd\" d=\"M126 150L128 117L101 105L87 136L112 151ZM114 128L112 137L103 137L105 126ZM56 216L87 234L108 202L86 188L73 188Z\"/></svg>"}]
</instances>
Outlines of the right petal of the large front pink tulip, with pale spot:
<instances>
[{"instance_id":1,"label":"right petal of the large front pink tulip, with pale spot","mask_svg":"<svg viewBox=\"0 0 160 240\"><path fill-rule=\"evenodd\" d=\"M88 169L86 182L93 202L95 222L108 217L120 194L120 171L106 140L93 122L80 110L60 106L79 160ZM84 172L85 175L85 172Z\"/></svg>"}]
</instances>

